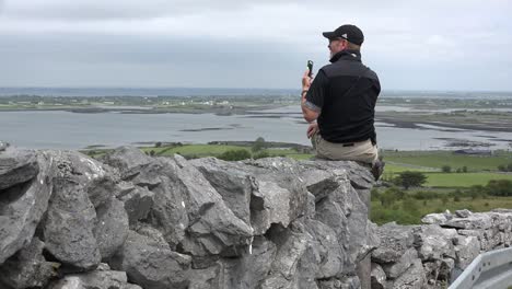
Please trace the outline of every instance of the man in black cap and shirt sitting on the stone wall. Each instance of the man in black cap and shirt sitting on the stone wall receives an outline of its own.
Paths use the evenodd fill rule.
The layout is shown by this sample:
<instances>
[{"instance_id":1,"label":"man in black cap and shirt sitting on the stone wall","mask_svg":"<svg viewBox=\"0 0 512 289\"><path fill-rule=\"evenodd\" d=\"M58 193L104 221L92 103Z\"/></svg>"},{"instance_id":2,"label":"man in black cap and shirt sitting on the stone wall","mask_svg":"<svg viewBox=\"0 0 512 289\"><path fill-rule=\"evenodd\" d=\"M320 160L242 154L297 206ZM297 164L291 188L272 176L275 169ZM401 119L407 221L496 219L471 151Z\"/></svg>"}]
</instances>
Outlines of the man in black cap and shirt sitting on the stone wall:
<instances>
[{"instance_id":1,"label":"man in black cap and shirt sitting on the stone wall","mask_svg":"<svg viewBox=\"0 0 512 289\"><path fill-rule=\"evenodd\" d=\"M352 160L372 165L382 174L374 123L381 84L375 72L361 62L364 35L354 25L324 32L329 41L330 65L318 70L314 81L309 70L302 78L302 113L310 123L307 137L316 155L328 160Z\"/></svg>"}]
</instances>

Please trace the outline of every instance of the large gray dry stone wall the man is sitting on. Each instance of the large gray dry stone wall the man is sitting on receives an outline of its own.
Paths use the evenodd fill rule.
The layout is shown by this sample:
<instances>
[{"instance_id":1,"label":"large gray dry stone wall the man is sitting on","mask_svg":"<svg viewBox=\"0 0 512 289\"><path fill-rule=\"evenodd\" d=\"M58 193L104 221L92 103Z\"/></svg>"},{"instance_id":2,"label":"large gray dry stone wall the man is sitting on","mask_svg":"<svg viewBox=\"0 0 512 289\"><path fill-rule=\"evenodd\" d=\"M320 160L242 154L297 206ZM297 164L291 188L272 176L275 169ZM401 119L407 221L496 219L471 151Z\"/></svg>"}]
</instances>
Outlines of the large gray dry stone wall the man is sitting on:
<instances>
[{"instance_id":1,"label":"large gray dry stone wall the man is sitting on","mask_svg":"<svg viewBox=\"0 0 512 289\"><path fill-rule=\"evenodd\" d=\"M3 148L0 288L360 288L372 185L353 162Z\"/></svg>"}]
</instances>

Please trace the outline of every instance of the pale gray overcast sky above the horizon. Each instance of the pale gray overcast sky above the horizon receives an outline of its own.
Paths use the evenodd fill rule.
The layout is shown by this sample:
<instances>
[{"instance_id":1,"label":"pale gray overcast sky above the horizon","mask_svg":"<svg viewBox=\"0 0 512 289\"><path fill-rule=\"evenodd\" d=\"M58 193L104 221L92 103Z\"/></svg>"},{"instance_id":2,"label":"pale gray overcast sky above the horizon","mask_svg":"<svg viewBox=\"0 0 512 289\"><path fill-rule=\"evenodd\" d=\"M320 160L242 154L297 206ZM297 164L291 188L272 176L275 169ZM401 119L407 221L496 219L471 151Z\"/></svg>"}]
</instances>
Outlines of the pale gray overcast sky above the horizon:
<instances>
[{"instance_id":1,"label":"pale gray overcast sky above the horizon","mask_svg":"<svg viewBox=\"0 0 512 289\"><path fill-rule=\"evenodd\" d=\"M384 90L512 91L512 1L0 0L0 86L299 88L322 32Z\"/></svg>"}]
</instances>

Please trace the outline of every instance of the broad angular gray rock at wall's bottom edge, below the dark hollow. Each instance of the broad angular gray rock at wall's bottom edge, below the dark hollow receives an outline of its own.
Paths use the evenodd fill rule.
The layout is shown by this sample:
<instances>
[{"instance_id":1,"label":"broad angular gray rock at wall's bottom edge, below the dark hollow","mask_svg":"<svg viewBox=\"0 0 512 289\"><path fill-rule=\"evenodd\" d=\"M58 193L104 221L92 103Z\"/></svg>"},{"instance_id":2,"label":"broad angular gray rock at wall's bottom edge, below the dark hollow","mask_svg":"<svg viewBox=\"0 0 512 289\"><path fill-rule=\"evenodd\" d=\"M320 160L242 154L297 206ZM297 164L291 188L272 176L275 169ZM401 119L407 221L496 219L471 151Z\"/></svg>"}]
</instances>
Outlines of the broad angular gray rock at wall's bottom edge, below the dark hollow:
<instances>
[{"instance_id":1,"label":"broad angular gray rock at wall's bottom edge, below the dark hollow","mask_svg":"<svg viewBox=\"0 0 512 289\"><path fill-rule=\"evenodd\" d=\"M191 258L171 251L163 236L156 236L158 231L148 229L146 234L129 231L128 239L110 261L110 266L126 271L128 279L142 288L187 288Z\"/></svg>"}]
</instances>

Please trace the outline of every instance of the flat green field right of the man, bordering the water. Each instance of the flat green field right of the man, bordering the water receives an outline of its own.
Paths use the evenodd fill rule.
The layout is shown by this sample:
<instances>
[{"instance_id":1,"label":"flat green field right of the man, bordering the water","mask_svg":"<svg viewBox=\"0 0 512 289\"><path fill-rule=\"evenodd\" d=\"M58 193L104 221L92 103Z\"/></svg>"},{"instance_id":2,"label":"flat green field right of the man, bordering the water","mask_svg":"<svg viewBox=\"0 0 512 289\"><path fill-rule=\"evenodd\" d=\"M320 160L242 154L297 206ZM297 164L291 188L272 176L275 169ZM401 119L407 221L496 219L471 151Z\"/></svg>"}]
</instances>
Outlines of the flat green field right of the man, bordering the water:
<instances>
[{"instance_id":1,"label":"flat green field right of the man, bordering the water","mask_svg":"<svg viewBox=\"0 0 512 289\"><path fill-rule=\"evenodd\" d=\"M498 165L507 165L512 162L512 152L498 152L496 155L464 155L450 151L384 151L384 161L396 164L411 164L441 169L450 165L452 170L467 166L469 172L497 171Z\"/></svg>"}]
</instances>

